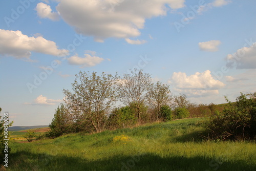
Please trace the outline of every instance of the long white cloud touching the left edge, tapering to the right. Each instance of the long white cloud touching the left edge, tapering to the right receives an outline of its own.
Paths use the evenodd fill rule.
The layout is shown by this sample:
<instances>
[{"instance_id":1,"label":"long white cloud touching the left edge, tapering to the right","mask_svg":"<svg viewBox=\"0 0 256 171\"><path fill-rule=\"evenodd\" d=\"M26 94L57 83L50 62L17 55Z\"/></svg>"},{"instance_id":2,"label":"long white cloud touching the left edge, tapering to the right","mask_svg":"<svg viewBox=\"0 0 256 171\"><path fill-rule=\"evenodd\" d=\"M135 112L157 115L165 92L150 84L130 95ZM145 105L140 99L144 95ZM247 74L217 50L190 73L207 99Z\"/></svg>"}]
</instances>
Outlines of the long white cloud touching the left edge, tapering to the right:
<instances>
[{"instance_id":1,"label":"long white cloud touching the left edge, tapering to the right","mask_svg":"<svg viewBox=\"0 0 256 171\"><path fill-rule=\"evenodd\" d=\"M0 54L16 58L29 58L31 51L53 56L66 56L68 50L58 49L54 41L41 36L28 37L21 31L0 29Z\"/></svg>"}]
</instances>

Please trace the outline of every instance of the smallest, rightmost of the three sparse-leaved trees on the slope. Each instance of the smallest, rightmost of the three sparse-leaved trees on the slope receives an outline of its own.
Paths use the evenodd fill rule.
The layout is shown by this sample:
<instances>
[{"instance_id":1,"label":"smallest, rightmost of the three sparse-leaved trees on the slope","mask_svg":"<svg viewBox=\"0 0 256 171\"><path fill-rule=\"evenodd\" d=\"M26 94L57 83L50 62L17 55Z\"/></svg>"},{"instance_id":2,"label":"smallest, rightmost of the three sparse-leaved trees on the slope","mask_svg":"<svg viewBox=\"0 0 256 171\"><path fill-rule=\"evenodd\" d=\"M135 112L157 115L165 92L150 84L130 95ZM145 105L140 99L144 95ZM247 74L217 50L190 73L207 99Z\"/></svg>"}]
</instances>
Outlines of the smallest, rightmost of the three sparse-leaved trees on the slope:
<instances>
[{"instance_id":1,"label":"smallest, rightmost of the three sparse-leaved trees on the slope","mask_svg":"<svg viewBox=\"0 0 256 171\"><path fill-rule=\"evenodd\" d=\"M160 117L161 107L167 105L167 103L171 100L169 86L162 84L161 82L157 82L153 84L149 91L150 96L150 104L153 105L155 109L156 120Z\"/></svg>"}]
</instances>

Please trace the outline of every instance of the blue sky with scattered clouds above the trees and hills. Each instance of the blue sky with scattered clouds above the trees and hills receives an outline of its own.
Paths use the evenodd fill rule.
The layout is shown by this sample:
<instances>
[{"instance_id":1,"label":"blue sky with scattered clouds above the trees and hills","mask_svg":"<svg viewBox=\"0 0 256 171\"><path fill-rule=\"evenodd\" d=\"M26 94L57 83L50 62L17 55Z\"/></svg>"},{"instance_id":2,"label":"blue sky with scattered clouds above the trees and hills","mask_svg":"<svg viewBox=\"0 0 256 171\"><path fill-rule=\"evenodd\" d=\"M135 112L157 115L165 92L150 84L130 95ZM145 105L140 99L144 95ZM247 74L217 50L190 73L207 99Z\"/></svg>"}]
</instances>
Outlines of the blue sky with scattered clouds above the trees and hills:
<instances>
[{"instance_id":1,"label":"blue sky with scattered clouds above the trees and hills","mask_svg":"<svg viewBox=\"0 0 256 171\"><path fill-rule=\"evenodd\" d=\"M3 112L47 125L79 71L138 68L191 102L256 91L256 1L0 2Z\"/></svg>"}]
</instances>

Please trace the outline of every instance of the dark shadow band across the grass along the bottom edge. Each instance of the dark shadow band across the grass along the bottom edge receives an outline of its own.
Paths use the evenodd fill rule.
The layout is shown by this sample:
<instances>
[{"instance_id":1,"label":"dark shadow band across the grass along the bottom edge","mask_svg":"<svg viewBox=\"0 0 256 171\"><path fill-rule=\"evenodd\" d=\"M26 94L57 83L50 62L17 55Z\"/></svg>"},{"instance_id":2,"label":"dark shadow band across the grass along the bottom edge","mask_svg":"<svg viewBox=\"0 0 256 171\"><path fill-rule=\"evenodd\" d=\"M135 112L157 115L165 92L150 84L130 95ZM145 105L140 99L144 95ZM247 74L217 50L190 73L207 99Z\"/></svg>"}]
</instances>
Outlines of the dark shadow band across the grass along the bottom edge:
<instances>
[{"instance_id":1,"label":"dark shadow band across the grass along the bottom edge","mask_svg":"<svg viewBox=\"0 0 256 171\"><path fill-rule=\"evenodd\" d=\"M104 158L104 156L99 156ZM256 170L256 164L248 165L242 161L227 162L205 157L160 157L146 153L141 156L114 156L109 159L88 161L79 157L33 154L26 151L10 154L7 170Z\"/></svg>"}]
</instances>

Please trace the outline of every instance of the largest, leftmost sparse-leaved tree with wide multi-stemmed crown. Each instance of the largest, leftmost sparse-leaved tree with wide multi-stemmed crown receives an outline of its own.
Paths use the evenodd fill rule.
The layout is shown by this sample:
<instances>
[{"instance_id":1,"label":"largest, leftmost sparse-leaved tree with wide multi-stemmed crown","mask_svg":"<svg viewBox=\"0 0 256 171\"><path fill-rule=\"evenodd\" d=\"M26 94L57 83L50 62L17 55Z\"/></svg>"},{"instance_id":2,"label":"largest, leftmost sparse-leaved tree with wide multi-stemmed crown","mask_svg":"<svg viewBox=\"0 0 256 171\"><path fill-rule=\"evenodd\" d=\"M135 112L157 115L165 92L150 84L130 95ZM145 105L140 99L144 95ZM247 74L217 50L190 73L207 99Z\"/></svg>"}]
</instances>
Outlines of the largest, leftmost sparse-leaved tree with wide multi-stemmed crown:
<instances>
[{"instance_id":1,"label":"largest, leftmost sparse-leaved tree with wide multi-stemmed crown","mask_svg":"<svg viewBox=\"0 0 256 171\"><path fill-rule=\"evenodd\" d=\"M63 89L69 112L78 123L87 122L92 125L92 131L103 131L112 106L119 97L115 86L117 79L117 75L104 72L100 76L96 72L79 72L72 83L74 93Z\"/></svg>"}]
</instances>

